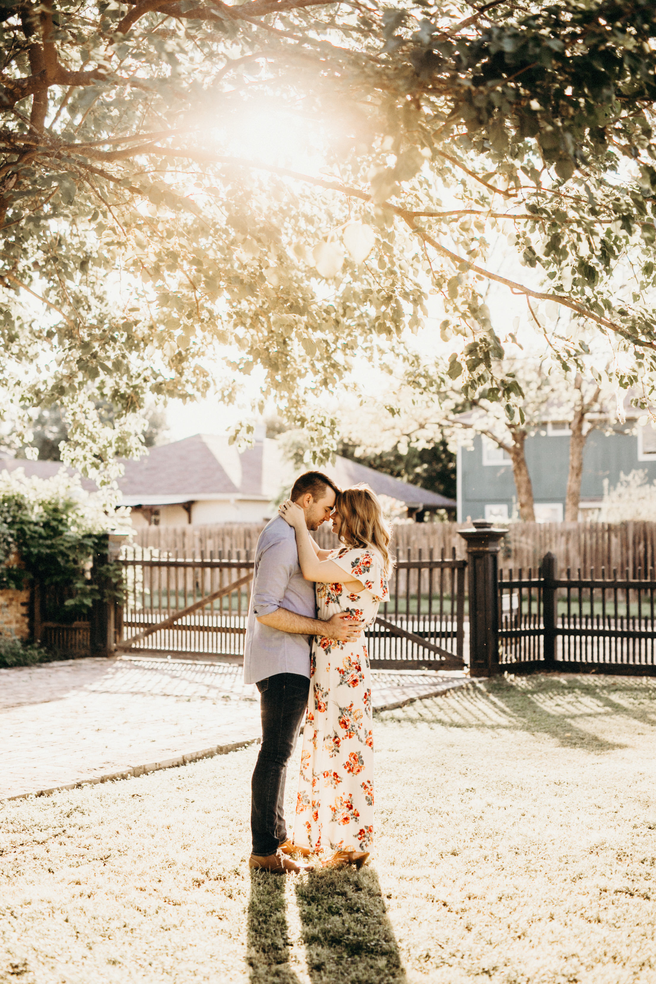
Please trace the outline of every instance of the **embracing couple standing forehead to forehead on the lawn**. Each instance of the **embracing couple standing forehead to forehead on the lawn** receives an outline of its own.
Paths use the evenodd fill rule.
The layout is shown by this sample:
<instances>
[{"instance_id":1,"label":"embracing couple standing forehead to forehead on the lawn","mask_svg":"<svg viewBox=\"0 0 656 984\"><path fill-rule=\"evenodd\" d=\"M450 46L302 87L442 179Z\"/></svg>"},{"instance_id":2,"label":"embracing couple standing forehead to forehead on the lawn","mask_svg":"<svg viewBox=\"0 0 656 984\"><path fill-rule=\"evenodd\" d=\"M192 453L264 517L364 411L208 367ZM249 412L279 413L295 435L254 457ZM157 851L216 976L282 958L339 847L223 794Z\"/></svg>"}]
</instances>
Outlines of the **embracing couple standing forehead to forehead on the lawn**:
<instances>
[{"instance_id":1,"label":"embracing couple standing forehead to forehead on the lawn","mask_svg":"<svg viewBox=\"0 0 656 984\"><path fill-rule=\"evenodd\" d=\"M310 535L332 521L336 550ZM341 491L308 471L263 531L255 557L244 679L260 692L262 745L253 772L249 866L363 865L374 840L374 742L364 636L388 599L392 564L381 504L367 486ZM287 764L305 719L291 835Z\"/></svg>"}]
</instances>

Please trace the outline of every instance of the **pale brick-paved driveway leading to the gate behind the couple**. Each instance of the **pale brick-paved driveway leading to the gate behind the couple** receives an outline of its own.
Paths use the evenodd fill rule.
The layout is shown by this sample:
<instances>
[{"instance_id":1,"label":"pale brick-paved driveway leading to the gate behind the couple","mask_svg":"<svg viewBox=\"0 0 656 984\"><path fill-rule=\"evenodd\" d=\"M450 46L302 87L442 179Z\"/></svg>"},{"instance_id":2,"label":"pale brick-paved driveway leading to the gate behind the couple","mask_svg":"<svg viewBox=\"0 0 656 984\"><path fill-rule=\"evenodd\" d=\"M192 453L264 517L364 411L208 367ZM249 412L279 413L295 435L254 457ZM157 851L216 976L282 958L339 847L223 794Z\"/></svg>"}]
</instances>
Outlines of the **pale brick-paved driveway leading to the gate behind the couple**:
<instances>
[{"instance_id":1,"label":"pale brick-paved driveway leading to the gate behind the couple","mask_svg":"<svg viewBox=\"0 0 656 984\"><path fill-rule=\"evenodd\" d=\"M375 709L466 686L461 673L373 670ZM260 737L241 666L124 656L0 669L0 800L140 775Z\"/></svg>"}]
</instances>

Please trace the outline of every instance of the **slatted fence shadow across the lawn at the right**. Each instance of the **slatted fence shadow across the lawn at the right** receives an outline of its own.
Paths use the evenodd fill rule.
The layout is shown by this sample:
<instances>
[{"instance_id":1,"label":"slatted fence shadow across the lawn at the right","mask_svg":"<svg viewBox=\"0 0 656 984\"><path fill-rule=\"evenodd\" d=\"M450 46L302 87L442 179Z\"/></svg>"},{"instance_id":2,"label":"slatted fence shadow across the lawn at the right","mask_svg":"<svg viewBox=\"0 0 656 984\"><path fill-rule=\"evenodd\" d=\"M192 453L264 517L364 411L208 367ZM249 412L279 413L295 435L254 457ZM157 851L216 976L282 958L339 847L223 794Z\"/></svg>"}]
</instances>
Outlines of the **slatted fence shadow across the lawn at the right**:
<instances>
[{"instance_id":1,"label":"slatted fence shadow across the lawn at the right","mask_svg":"<svg viewBox=\"0 0 656 984\"><path fill-rule=\"evenodd\" d=\"M656 683L656 682L655 682ZM422 722L449 727L492 730L520 729L548 735L564 748L585 749L592 753L625 748L613 740L612 723L606 735L593 733L576 721L603 722L615 717L656 726L656 686L644 680L617 677L580 678L569 675L534 674L496 677L475 689L455 693L449 699L422 701L402 711L384 711L380 717L394 716L402 723ZM626 707L623 701L640 698L643 707ZM648 706L650 705L650 707ZM379 716L379 715L377 715Z\"/></svg>"}]
</instances>

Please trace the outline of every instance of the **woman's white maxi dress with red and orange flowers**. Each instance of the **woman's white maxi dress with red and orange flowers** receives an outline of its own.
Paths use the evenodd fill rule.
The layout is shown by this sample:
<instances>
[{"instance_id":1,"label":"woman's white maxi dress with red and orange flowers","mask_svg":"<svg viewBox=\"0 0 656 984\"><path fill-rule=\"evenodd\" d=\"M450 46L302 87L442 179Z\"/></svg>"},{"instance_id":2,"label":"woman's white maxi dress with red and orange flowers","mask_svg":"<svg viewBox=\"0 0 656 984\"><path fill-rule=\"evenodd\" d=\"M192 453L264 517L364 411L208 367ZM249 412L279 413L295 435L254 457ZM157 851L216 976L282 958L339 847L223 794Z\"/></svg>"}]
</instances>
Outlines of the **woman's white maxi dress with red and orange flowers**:
<instances>
[{"instance_id":1,"label":"woman's white maxi dress with red and orange flowers","mask_svg":"<svg viewBox=\"0 0 656 984\"><path fill-rule=\"evenodd\" d=\"M342 547L328 560L343 569L343 584L317 584L319 618L350 612L365 627L388 600L388 582L378 555ZM374 840L374 739L371 674L364 637L337 643L315 637L310 695L303 732L293 842L312 850L371 850Z\"/></svg>"}]
</instances>

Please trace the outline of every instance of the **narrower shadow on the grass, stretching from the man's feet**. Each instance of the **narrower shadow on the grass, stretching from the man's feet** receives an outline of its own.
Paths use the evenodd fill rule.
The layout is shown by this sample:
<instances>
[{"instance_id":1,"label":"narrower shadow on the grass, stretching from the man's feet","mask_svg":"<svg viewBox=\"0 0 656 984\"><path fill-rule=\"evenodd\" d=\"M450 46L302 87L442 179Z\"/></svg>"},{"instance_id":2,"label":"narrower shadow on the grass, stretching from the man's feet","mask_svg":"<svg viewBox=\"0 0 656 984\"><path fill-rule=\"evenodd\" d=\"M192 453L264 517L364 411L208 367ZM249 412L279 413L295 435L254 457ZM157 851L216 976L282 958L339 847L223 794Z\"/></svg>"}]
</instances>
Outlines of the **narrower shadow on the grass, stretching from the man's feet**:
<instances>
[{"instance_id":1,"label":"narrower shadow on the grass, stretching from the man's feet","mask_svg":"<svg viewBox=\"0 0 656 984\"><path fill-rule=\"evenodd\" d=\"M299 984L289 966L285 878L251 871L248 952L252 984Z\"/></svg>"}]
</instances>

